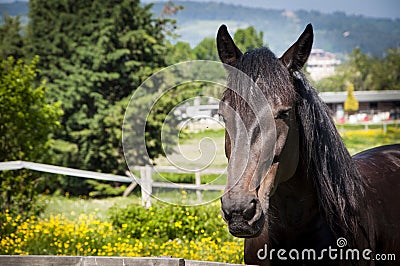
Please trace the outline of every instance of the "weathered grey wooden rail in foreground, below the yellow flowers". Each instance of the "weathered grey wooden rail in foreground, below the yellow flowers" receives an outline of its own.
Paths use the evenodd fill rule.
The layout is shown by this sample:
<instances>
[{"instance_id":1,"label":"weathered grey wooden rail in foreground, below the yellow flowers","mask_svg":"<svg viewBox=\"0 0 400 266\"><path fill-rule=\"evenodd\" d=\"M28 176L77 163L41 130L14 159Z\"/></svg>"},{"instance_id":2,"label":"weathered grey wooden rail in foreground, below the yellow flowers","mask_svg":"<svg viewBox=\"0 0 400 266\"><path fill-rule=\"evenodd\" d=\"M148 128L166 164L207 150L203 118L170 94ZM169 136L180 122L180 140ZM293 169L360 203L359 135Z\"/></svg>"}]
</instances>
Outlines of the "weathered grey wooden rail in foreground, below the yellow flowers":
<instances>
[{"instance_id":1,"label":"weathered grey wooden rail in foreground, below the yellow flowers","mask_svg":"<svg viewBox=\"0 0 400 266\"><path fill-rule=\"evenodd\" d=\"M95 256L13 256L0 255L1 266L233 266L221 262L186 260L181 258L133 258Z\"/></svg>"}]
</instances>

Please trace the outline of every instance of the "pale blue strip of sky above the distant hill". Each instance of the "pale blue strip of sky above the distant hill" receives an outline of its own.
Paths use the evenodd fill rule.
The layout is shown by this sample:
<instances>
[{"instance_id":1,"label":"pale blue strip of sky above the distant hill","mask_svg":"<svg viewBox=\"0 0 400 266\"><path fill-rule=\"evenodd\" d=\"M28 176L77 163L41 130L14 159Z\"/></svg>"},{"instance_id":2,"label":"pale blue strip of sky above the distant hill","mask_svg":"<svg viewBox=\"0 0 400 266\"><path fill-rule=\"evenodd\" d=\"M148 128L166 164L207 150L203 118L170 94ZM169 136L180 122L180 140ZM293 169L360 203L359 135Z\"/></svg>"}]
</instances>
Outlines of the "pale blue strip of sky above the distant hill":
<instances>
[{"instance_id":1,"label":"pale blue strip of sky above the distant hill","mask_svg":"<svg viewBox=\"0 0 400 266\"><path fill-rule=\"evenodd\" d=\"M10 3L16 0L0 0L0 3ZM27 1L27 0L20 0ZM154 0L142 0L153 2ZM161 0L166 1L166 0ZM198 2L224 2L249 7L263 7L287 10L317 10L323 13L335 11L346 14L364 15L375 18L400 19L400 0L192 0Z\"/></svg>"}]
</instances>

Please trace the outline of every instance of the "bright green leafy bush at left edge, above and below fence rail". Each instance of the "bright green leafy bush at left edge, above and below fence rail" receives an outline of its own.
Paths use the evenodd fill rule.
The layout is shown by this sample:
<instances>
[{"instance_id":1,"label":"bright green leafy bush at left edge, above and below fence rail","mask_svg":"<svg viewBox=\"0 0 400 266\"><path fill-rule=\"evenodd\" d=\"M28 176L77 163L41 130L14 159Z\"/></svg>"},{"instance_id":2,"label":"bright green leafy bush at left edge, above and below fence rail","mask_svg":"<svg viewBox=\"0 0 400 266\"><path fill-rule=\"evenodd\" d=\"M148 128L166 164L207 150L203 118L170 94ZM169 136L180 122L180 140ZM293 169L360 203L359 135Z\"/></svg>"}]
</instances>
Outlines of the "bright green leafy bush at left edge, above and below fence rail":
<instances>
[{"instance_id":1,"label":"bright green leafy bush at left edge, above and below fence rail","mask_svg":"<svg viewBox=\"0 0 400 266\"><path fill-rule=\"evenodd\" d=\"M60 103L46 103L45 83L35 85L38 60L0 59L0 162L43 160L59 128ZM0 172L1 213L32 214L37 178L27 171Z\"/></svg>"}]
</instances>

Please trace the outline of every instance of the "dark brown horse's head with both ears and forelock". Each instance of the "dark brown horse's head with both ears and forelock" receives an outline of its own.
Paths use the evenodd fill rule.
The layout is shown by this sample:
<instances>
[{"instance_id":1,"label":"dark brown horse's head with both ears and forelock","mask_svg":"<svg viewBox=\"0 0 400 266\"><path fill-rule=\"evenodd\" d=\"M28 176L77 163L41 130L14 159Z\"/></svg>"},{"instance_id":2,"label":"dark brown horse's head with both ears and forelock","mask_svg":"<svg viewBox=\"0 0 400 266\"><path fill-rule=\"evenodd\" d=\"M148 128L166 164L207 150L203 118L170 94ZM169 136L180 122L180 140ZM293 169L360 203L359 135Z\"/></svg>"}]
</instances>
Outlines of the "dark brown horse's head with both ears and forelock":
<instances>
[{"instance_id":1,"label":"dark brown horse's head with both ears and forelock","mask_svg":"<svg viewBox=\"0 0 400 266\"><path fill-rule=\"evenodd\" d=\"M219 107L225 120L228 158L228 180L221 202L223 217L235 236L256 237L263 231L270 197L296 172L298 97L292 73L304 66L312 42L313 30L308 25L281 58L267 48L243 54L225 25L218 30L218 53L228 72ZM243 82L246 77L249 82Z\"/></svg>"}]
</instances>

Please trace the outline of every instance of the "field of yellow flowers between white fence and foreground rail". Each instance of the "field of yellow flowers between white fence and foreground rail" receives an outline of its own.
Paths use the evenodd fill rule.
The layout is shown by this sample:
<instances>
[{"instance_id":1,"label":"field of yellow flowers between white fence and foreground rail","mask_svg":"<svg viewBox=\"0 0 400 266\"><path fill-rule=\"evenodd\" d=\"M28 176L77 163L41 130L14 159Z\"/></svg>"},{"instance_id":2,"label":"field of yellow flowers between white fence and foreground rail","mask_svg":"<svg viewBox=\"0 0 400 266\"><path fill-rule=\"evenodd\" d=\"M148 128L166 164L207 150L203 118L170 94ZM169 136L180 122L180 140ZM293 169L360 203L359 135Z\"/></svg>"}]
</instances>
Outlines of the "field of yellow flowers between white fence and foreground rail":
<instances>
[{"instance_id":1,"label":"field of yellow flowers between white fence and foreground rail","mask_svg":"<svg viewBox=\"0 0 400 266\"><path fill-rule=\"evenodd\" d=\"M222 221L222 218L218 217L219 212L212 213L217 210L218 204L211 205L208 208L157 206L150 210L132 205L124 209L121 215L118 214L121 210L115 209L112 222L102 221L95 214L80 214L75 219L58 214L21 221L20 216L12 217L6 212L5 222L0 227L0 254L172 256L242 263L242 240L230 237L226 228L215 222L217 219ZM206 209L207 215L197 215ZM161 217L154 215L155 212L162 212L161 216L166 213L169 215ZM215 221L202 220L208 215L213 215ZM181 220L176 220L178 218ZM119 223L121 219L123 223ZM169 239L171 234L175 238Z\"/></svg>"}]
</instances>

